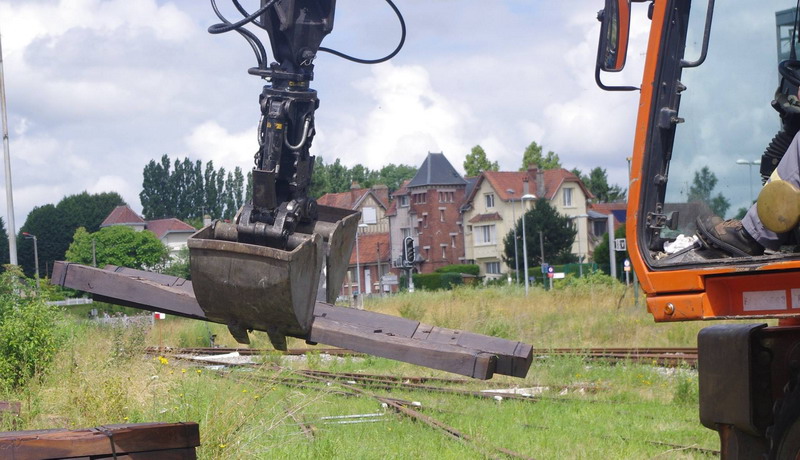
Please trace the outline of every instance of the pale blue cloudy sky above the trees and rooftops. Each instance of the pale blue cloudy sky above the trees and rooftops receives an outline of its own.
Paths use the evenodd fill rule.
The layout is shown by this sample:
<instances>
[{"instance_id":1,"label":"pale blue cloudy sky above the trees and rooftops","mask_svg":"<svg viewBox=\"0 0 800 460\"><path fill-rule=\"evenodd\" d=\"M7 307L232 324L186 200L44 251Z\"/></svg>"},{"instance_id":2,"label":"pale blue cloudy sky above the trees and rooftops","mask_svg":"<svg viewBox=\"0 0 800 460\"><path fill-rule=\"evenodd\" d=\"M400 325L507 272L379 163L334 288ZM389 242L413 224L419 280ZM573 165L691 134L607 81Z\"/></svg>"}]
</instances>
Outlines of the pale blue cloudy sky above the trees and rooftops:
<instances>
[{"instance_id":1,"label":"pale blue cloudy sky above the trees and rooftops","mask_svg":"<svg viewBox=\"0 0 800 460\"><path fill-rule=\"evenodd\" d=\"M463 172L479 144L517 170L536 141L564 167L601 166L626 188L639 95L596 87L602 2L577 4L397 0L408 36L394 59L317 57L312 154L375 169L443 152ZM634 5L628 66L609 82L641 81L644 11ZM207 33L216 22L207 1L0 1L17 229L35 206L82 191L116 191L140 212L142 169L164 154L252 168L264 82L247 73L244 40ZM323 45L376 58L399 36L384 1L338 0Z\"/></svg>"}]
</instances>

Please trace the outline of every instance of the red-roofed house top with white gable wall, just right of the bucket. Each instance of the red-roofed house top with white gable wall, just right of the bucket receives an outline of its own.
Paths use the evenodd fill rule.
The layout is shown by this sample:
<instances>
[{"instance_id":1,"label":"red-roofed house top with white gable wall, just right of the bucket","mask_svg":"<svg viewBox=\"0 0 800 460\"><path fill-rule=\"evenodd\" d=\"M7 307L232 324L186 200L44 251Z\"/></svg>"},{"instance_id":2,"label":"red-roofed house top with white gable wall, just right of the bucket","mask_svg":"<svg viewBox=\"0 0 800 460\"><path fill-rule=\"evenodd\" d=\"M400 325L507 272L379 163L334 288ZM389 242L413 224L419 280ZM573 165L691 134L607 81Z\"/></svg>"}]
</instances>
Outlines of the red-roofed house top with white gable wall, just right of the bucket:
<instances>
[{"instance_id":1,"label":"red-roofed house top with white gable wall, just right of the bucket","mask_svg":"<svg viewBox=\"0 0 800 460\"><path fill-rule=\"evenodd\" d=\"M359 232L389 232L389 221L386 219L386 208L389 207L389 187L386 185L375 185L365 189L353 182L349 191L326 193L317 199L317 204L361 211L359 224L365 226L359 226Z\"/></svg>"}]
</instances>

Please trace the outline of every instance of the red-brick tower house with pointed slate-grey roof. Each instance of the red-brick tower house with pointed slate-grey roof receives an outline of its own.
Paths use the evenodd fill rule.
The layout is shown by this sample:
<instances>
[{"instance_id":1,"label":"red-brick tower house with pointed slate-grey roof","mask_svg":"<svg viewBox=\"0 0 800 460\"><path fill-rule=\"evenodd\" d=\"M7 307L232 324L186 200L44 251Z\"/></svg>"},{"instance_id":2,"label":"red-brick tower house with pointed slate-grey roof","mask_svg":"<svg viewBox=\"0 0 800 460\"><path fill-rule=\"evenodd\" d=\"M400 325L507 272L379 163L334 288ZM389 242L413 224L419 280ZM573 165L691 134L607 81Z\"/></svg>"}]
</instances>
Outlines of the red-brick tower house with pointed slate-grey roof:
<instances>
[{"instance_id":1,"label":"red-brick tower house with pointed slate-grey roof","mask_svg":"<svg viewBox=\"0 0 800 460\"><path fill-rule=\"evenodd\" d=\"M408 236L416 243L420 273L464 262L460 207L469 185L443 153L428 152L417 174L392 195L387 212L395 266Z\"/></svg>"}]
</instances>

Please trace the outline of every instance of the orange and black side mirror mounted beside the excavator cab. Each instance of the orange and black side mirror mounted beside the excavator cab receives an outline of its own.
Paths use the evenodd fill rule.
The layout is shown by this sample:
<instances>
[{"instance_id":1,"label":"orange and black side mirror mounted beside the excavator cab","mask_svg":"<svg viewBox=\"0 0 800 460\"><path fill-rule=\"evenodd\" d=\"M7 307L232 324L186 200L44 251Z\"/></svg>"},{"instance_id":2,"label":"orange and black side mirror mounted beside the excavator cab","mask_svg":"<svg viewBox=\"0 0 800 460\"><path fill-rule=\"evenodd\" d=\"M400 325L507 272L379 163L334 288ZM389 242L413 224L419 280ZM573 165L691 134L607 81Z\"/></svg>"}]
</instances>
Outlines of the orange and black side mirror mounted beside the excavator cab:
<instances>
[{"instance_id":1,"label":"orange and black side mirror mounted beside the excavator cab","mask_svg":"<svg viewBox=\"0 0 800 460\"><path fill-rule=\"evenodd\" d=\"M606 0L598 14L600 43L597 47L597 68L619 72L625 67L628 54L628 33L631 26L631 0Z\"/></svg>"}]
</instances>

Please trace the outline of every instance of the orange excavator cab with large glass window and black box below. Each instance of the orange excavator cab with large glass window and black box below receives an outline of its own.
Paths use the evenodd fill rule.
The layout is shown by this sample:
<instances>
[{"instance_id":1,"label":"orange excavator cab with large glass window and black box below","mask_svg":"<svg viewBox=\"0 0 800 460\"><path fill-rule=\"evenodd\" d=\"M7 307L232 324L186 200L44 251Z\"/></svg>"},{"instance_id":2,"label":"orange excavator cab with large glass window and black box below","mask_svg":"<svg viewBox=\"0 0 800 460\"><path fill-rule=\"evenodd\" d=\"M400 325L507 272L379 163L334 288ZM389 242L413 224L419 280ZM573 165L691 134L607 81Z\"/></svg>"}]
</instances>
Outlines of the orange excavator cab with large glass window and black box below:
<instances>
[{"instance_id":1,"label":"orange excavator cab with large glass window and black box below","mask_svg":"<svg viewBox=\"0 0 800 460\"><path fill-rule=\"evenodd\" d=\"M750 320L698 335L700 420L723 458L800 456L798 6L606 0L598 16L598 86L639 92L626 239L647 308L656 321ZM624 54L629 35L628 64L641 52L642 25L636 81ZM778 239L736 253L704 238L728 219L721 230L749 219Z\"/></svg>"}]
</instances>

